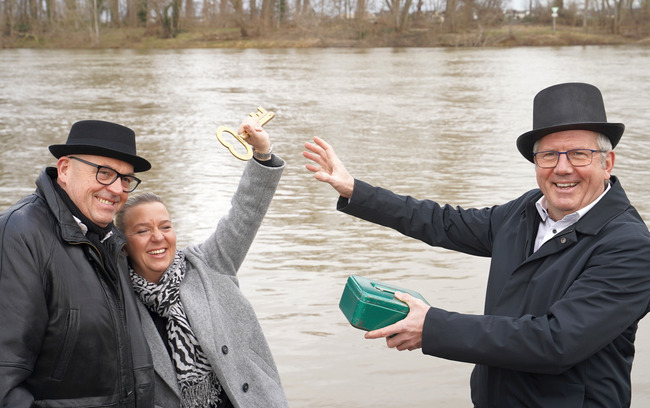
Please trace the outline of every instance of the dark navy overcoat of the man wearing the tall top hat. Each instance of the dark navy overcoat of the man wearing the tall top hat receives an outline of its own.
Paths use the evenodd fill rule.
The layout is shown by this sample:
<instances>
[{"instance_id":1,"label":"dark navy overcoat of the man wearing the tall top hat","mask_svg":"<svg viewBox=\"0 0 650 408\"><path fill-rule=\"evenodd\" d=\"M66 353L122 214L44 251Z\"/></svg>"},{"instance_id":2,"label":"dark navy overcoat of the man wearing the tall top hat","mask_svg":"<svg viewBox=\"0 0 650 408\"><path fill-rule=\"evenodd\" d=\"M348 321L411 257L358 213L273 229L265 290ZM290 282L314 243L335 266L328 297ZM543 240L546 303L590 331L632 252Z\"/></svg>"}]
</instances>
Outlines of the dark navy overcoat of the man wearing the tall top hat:
<instances>
[{"instance_id":1,"label":"dark navy overcoat of the man wearing the tall top hat","mask_svg":"<svg viewBox=\"0 0 650 408\"><path fill-rule=\"evenodd\" d=\"M348 214L433 246L491 257L484 315L432 307L425 354L476 364L476 407L628 407L638 321L650 302L650 233L620 182L535 253L540 190L483 209L355 181Z\"/></svg>"}]
</instances>

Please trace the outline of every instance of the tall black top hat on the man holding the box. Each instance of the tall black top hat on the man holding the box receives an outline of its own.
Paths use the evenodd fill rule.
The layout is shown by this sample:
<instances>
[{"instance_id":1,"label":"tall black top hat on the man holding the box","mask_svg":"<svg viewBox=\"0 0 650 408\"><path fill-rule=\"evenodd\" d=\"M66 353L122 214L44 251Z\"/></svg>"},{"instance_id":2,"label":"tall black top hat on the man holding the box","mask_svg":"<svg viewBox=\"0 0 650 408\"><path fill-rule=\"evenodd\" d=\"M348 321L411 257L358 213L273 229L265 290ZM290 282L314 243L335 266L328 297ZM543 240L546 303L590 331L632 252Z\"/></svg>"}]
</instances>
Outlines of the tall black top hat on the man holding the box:
<instances>
[{"instance_id":1,"label":"tall black top hat on the man holding the box","mask_svg":"<svg viewBox=\"0 0 650 408\"><path fill-rule=\"evenodd\" d=\"M550 133L563 130L592 130L602 133L616 146L625 125L609 123L600 90L578 82L553 85L541 90L533 101L533 130L517 138L517 149L534 162L535 142Z\"/></svg>"}]
</instances>

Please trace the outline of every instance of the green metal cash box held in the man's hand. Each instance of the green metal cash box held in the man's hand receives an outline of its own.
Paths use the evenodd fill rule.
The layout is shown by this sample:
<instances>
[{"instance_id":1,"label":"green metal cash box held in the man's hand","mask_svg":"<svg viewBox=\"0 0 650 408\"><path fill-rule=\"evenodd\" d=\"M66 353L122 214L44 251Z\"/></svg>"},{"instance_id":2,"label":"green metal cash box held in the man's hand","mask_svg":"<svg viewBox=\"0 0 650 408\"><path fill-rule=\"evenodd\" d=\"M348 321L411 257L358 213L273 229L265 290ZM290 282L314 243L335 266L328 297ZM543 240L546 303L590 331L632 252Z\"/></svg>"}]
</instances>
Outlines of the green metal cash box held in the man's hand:
<instances>
[{"instance_id":1,"label":"green metal cash box held in the man's hand","mask_svg":"<svg viewBox=\"0 0 650 408\"><path fill-rule=\"evenodd\" d=\"M408 305L395 298L395 292L408 293L429 304L413 290L351 275L339 308L352 326L367 331L380 329L402 320L409 312Z\"/></svg>"}]
</instances>

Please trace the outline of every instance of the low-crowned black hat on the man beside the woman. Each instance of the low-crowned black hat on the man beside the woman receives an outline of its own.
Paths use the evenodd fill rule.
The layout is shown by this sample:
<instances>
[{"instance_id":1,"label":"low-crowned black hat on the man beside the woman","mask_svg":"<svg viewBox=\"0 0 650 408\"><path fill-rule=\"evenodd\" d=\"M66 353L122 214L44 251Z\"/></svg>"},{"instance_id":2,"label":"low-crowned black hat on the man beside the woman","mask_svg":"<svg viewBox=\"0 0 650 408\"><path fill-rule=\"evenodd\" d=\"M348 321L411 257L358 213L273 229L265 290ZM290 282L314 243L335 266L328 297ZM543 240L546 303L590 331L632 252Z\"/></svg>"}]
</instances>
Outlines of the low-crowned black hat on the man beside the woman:
<instances>
[{"instance_id":1,"label":"low-crowned black hat on the man beside the woman","mask_svg":"<svg viewBox=\"0 0 650 408\"><path fill-rule=\"evenodd\" d=\"M74 123L65 144L51 145L49 149L57 159L69 154L91 154L131 163L134 172L151 168L151 163L136 154L133 130L102 120Z\"/></svg>"}]
</instances>

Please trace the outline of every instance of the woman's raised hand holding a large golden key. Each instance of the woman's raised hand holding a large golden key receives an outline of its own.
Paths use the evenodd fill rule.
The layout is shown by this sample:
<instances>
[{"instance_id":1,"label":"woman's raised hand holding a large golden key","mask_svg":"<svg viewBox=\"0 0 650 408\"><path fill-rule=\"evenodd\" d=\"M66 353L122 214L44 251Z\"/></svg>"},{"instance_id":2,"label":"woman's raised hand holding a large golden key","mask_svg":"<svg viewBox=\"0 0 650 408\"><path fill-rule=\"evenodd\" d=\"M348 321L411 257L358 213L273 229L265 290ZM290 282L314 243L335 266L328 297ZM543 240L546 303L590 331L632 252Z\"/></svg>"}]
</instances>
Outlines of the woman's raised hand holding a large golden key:
<instances>
[{"instance_id":1,"label":"woman's raised hand holding a large golden key","mask_svg":"<svg viewBox=\"0 0 650 408\"><path fill-rule=\"evenodd\" d=\"M256 151L266 152L270 148L268 134L266 134L266 132L262 129L262 126L273 119L275 117L275 113L267 112L264 108L259 107L257 108L257 112L252 112L249 116L250 118L256 120L258 123L254 124L254 121L251 121L250 118L247 118L247 120L244 120L244 122L240 125L238 132L228 126L219 126L217 129L217 139L219 139L219 142L221 142L222 145L230 150L230 153L232 153L232 155L239 160L250 160L250 158L253 157L253 148L251 147L251 144L256 148ZM263 132L263 135L266 135L266 141L268 142L267 146L263 146L265 143L264 140L257 140L257 135L259 132ZM235 150L235 147L224 139L224 133L229 133L235 139L237 139L237 141L246 149L246 153L238 153ZM248 140L249 137L251 137L251 134L254 134L256 137L255 139ZM247 142L250 142L250 144ZM264 149L264 147L266 147L266 149Z\"/></svg>"}]
</instances>

